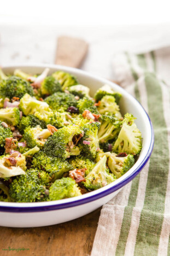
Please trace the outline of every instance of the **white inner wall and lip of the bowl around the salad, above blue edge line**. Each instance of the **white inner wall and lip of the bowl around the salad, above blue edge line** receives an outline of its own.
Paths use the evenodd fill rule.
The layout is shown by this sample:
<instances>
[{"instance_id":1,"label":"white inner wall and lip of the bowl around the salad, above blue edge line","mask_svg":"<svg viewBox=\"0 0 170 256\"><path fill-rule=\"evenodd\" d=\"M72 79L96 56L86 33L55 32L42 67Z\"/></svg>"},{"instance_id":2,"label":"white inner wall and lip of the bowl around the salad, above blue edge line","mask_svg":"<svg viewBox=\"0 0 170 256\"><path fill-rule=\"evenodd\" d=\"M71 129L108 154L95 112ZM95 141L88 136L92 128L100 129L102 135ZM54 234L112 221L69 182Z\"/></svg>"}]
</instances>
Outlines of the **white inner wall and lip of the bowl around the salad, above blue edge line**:
<instances>
[{"instance_id":1,"label":"white inner wall and lip of the bowl around the salad, above blue edge line","mask_svg":"<svg viewBox=\"0 0 170 256\"><path fill-rule=\"evenodd\" d=\"M108 190L111 187L118 187L118 189L125 185L126 183L124 181L127 180L128 177L132 177L132 175L135 177L134 173L136 172L137 168L144 162L148 152L151 150L151 147L153 147L153 130L151 127L151 122L149 120L148 115L146 114L145 110L143 107L138 103L136 99L134 99L130 94L128 94L124 89L119 87L113 82L110 82L106 79L103 78L98 78L95 76L90 75L89 73L86 73L84 71L78 70L78 69L73 69L70 67L65 67L65 66L58 66L58 65L15 65L15 66L6 66L3 67L3 71L7 74L12 74L15 69L21 69L22 71L25 71L27 73L41 73L45 67L50 68L50 72L52 73L56 70L63 70L69 73L72 73L73 75L77 76L78 81L80 84L83 84L84 86L87 86L90 88L90 93L93 96L98 88L103 86L104 84L109 84L115 92L120 92L122 94L122 98L120 100L120 111L122 115L124 115L126 112L132 113L136 118L136 124L142 133L143 136L143 147L142 151L140 152L139 158L137 162L134 164L134 166L126 173L124 174L121 178L118 180L114 181L114 183L109 184L105 187L102 187L101 189L98 189L96 191L92 191L88 194L85 194L83 196L79 197L74 197L74 198L67 198L64 200L58 200L58 201L52 201L52 202L40 202L40 203L34 203L34 206L38 204L38 206L42 205L50 205L50 204L60 204L63 202L73 202L80 200L80 198L87 198L93 195L96 195L102 191ZM121 185L122 184L122 185ZM119 186L118 186L119 185ZM1 205L7 205L7 203L0 202ZM24 207L25 205L32 206L32 203L8 203L11 206L16 205L18 207Z\"/></svg>"}]
</instances>

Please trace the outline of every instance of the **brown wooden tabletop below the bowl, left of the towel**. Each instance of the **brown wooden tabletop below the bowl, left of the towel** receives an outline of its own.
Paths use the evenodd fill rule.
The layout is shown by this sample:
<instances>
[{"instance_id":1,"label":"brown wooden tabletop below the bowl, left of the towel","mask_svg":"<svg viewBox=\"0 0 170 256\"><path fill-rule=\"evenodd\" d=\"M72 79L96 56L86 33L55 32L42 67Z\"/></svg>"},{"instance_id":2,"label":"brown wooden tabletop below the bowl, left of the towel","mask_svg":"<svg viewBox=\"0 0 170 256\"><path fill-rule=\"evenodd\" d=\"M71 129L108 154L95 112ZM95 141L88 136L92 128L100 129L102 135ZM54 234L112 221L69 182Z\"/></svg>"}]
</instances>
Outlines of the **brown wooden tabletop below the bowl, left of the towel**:
<instances>
[{"instance_id":1,"label":"brown wooden tabletop below the bowl, left of the towel","mask_svg":"<svg viewBox=\"0 0 170 256\"><path fill-rule=\"evenodd\" d=\"M98 208L84 217L53 226L0 227L0 255L90 255L100 212ZM9 251L9 247L28 250Z\"/></svg>"}]
</instances>

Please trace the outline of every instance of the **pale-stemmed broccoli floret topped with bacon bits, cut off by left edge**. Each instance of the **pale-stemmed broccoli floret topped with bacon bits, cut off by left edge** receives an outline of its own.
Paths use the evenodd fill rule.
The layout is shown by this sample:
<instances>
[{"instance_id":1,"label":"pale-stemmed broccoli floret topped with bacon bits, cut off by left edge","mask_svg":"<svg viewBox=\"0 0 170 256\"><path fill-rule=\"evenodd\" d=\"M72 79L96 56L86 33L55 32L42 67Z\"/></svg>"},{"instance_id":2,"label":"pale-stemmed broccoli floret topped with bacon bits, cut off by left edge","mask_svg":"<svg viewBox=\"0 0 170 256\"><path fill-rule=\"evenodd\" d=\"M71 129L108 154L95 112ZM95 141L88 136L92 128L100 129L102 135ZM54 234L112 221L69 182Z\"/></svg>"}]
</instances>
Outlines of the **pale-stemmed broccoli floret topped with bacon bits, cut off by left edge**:
<instances>
[{"instance_id":1,"label":"pale-stemmed broccoli floret topped with bacon bits, cut off by left edge","mask_svg":"<svg viewBox=\"0 0 170 256\"><path fill-rule=\"evenodd\" d=\"M16 175L25 174L25 156L12 157L9 155L0 158L0 178L8 178Z\"/></svg>"}]
</instances>

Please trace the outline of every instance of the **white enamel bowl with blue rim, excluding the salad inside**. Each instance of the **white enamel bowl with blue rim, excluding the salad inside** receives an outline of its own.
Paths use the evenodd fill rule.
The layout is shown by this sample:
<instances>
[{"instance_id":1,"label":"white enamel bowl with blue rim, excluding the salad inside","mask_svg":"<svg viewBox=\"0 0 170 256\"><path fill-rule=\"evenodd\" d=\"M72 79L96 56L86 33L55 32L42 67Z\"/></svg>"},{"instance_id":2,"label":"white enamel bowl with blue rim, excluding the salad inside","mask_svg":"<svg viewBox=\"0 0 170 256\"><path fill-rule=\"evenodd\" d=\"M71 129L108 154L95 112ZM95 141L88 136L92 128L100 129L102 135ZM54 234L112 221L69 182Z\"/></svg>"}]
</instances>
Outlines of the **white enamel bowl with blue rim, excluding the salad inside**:
<instances>
[{"instance_id":1,"label":"white enamel bowl with blue rim, excluding the salad inside","mask_svg":"<svg viewBox=\"0 0 170 256\"><path fill-rule=\"evenodd\" d=\"M121 178L101 189L88 194L51 202L36 203L10 203L0 202L0 226L9 227L36 227L48 226L79 218L101 207L111 200L118 192L130 182L143 169L148 162L154 146L154 131L148 114L140 103L117 84L106 79L93 76L82 70L58 65L13 65L4 66L3 71L13 73L21 69L28 73L41 73L45 67L50 73L63 70L77 76L79 83L90 88L91 95L104 84L109 84L115 92L120 92L120 110L122 114L129 112L137 117L136 123L143 136L143 147L134 166Z\"/></svg>"}]
</instances>

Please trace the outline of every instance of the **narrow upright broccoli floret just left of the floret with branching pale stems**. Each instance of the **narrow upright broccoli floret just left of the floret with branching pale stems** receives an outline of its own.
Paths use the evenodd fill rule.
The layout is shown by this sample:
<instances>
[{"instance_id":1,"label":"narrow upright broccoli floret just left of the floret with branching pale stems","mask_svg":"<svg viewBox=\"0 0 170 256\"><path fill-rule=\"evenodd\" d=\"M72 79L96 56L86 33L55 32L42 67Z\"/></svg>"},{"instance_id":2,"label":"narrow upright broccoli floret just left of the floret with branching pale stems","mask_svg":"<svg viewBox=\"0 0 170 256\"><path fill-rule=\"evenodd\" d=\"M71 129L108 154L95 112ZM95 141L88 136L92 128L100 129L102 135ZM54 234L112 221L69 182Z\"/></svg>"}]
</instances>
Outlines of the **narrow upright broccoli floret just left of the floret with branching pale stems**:
<instances>
[{"instance_id":1,"label":"narrow upright broccoli floret just left of the floret with branching pale stems","mask_svg":"<svg viewBox=\"0 0 170 256\"><path fill-rule=\"evenodd\" d=\"M96 153L99 150L98 143L98 129L100 124L98 122L85 124L83 127L84 136L80 141L81 150L88 158L95 158Z\"/></svg>"}]
</instances>

